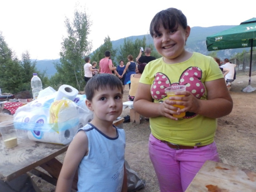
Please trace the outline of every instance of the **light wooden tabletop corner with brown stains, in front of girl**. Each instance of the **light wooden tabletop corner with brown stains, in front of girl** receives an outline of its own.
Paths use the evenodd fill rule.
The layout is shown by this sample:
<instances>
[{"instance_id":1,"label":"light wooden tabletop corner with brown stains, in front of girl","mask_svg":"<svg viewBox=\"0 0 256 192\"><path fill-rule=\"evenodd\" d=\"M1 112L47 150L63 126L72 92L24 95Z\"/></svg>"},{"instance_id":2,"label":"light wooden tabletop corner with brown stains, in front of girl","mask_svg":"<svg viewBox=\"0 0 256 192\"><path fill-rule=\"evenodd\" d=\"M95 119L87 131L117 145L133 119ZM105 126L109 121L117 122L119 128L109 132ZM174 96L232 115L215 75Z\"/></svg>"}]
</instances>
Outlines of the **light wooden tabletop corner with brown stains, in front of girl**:
<instances>
[{"instance_id":1,"label":"light wooden tabletop corner with brown stains, in front of girl","mask_svg":"<svg viewBox=\"0 0 256 192\"><path fill-rule=\"evenodd\" d=\"M206 161L185 192L256 191L256 173L224 163Z\"/></svg>"}]
</instances>

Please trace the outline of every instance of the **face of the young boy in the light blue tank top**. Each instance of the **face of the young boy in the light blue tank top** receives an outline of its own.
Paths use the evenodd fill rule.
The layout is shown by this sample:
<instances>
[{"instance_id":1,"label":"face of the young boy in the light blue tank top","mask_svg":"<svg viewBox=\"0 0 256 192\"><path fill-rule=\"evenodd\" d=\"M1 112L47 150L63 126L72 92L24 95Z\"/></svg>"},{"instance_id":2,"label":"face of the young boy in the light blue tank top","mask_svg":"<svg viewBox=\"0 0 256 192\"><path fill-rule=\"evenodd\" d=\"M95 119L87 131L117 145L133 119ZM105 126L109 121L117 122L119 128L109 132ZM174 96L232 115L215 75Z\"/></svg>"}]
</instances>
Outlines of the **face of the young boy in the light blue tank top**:
<instances>
[{"instance_id":1,"label":"face of the young boy in the light blue tank top","mask_svg":"<svg viewBox=\"0 0 256 192\"><path fill-rule=\"evenodd\" d=\"M95 90L92 101L86 101L87 107L93 111L94 120L114 121L122 113L123 101L121 90L110 88Z\"/></svg>"}]
</instances>

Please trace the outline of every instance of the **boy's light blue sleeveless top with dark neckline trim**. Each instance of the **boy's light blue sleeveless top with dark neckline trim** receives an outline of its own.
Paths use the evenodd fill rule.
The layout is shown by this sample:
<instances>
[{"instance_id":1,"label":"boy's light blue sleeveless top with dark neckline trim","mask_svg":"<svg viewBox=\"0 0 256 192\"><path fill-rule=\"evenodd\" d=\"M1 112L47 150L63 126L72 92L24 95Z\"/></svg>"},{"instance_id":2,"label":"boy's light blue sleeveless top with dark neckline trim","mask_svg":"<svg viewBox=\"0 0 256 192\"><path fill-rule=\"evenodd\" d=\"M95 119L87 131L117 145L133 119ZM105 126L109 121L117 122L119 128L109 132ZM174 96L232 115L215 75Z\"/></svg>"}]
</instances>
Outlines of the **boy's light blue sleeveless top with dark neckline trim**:
<instances>
[{"instance_id":1,"label":"boy's light blue sleeveless top with dark neckline trim","mask_svg":"<svg viewBox=\"0 0 256 192\"><path fill-rule=\"evenodd\" d=\"M114 127L115 138L106 136L91 123L78 130L86 132L89 142L89 153L78 167L78 192L121 191L125 133L123 129Z\"/></svg>"}]
</instances>

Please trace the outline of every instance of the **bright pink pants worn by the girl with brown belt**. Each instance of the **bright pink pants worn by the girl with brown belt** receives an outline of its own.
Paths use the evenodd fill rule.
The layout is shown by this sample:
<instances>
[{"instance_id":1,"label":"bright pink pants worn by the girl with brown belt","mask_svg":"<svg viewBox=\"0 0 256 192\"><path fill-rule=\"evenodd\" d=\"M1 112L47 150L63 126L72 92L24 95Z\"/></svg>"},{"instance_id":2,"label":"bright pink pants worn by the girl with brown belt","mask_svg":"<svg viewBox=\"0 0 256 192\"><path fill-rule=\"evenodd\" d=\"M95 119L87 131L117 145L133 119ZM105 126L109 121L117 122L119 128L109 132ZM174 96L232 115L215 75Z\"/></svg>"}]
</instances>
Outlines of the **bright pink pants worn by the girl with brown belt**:
<instances>
[{"instance_id":1,"label":"bright pink pants worn by the girl with brown belt","mask_svg":"<svg viewBox=\"0 0 256 192\"><path fill-rule=\"evenodd\" d=\"M219 161L216 143L189 150L174 150L150 135L150 159L161 192L185 191L206 160Z\"/></svg>"}]
</instances>

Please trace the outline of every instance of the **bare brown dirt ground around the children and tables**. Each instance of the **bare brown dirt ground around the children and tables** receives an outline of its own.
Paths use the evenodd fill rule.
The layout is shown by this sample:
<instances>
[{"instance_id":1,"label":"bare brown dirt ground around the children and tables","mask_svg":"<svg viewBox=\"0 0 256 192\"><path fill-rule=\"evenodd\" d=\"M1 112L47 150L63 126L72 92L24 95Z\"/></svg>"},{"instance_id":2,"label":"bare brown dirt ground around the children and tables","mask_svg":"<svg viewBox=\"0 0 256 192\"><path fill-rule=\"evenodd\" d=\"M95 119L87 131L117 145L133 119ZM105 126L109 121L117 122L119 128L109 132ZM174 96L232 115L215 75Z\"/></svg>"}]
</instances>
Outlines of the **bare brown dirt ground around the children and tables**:
<instances>
[{"instance_id":1,"label":"bare brown dirt ground around the children and tables","mask_svg":"<svg viewBox=\"0 0 256 192\"><path fill-rule=\"evenodd\" d=\"M230 94L233 99L232 112L218 119L215 141L221 162L246 168L256 172L256 91L242 92L248 86L249 75L238 73L237 79L232 82ZM251 87L256 87L256 72L251 75ZM127 101L129 87L125 86L123 101ZM122 117L129 115L129 108L123 110ZM124 123L126 133L125 159L135 170L146 186L141 192L159 191L154 168L148 156L148 136L150 135L149 122L142 117L141 124ZM57 157L61 162L65 154ZM33 176L33 180L43 192L53 192L55 186Z\"/></svg>"}]
</instances>

